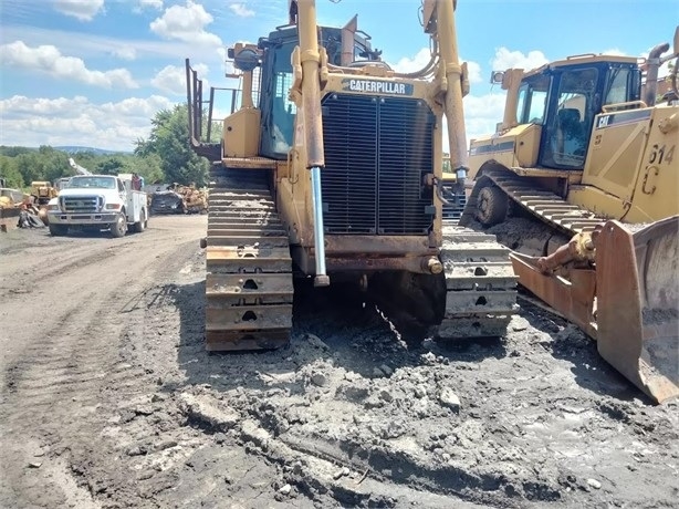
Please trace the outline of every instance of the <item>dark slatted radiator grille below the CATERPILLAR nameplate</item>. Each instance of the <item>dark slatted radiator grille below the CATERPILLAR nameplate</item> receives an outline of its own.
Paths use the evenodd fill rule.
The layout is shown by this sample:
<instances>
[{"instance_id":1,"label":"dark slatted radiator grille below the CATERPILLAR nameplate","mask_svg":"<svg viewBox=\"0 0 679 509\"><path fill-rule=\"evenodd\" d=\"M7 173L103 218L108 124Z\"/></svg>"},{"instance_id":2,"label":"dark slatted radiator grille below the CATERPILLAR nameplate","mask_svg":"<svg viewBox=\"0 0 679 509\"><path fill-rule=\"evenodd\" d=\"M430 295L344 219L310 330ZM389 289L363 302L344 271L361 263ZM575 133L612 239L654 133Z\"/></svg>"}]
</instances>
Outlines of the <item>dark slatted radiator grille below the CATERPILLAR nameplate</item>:
<instances>
[{"instance_id":1,"label":"dark slatted radiator grille below the CATERPILLAR nameplate","mask_svg":"<svg viewBox=\"0 0 679 509\"><path fill-rule=\"evenodd\" d=\"M424 101L331 94L323 100L328 233L422 235L433 218L435 116Z\"/></svg>"}]
</instances>

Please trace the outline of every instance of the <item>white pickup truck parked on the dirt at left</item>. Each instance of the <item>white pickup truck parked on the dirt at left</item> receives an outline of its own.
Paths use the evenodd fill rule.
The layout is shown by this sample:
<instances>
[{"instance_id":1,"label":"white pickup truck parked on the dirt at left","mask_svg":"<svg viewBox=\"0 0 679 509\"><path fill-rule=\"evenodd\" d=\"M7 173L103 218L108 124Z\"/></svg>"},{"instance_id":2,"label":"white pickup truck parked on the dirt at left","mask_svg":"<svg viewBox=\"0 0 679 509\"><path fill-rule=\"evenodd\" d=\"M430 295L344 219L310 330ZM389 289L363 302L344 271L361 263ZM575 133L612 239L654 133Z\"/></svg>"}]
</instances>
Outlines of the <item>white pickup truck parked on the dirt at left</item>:
<instances>
[{"instance_id":1,"label":"white pickup truck parked on the dirt at left","mask_svg":"<svg viewBox=\"0 0 679 509\"><path fill-rule=\"evenodd\" d=\"M77 175L71 177L48 205L50 233L69 229L108 229L123 237L128 228L142 232L148 225L146 193L134 190L132 175Z\"/></svg>"}]
</instances>

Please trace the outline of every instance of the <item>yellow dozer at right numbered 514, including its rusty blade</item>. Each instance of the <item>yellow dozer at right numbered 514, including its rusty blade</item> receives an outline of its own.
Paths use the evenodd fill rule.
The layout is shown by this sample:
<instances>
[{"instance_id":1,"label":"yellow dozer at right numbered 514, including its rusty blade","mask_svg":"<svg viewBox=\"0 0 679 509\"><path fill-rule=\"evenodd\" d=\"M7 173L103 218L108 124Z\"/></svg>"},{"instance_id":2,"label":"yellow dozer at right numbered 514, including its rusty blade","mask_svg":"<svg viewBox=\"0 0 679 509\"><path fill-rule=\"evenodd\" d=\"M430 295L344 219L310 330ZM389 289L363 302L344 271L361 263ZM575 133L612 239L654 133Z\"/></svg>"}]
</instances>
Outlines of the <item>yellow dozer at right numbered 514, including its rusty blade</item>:
<instances>
[{"instance_id":1,"label":"yellow dozer at right numbered 514, including its rusty blade","mask_svg":"<svg viewBox=\"0 0 679 509\"><path fill-rule=\"evenodd\" d=\"M658 103L656 87L658 67L679 56L679 28L668 50L493 73L504 118L470 143L460 219L498 232L520 284L657 402L679 395L676 65Z\"/></svg>"}]
</instances>

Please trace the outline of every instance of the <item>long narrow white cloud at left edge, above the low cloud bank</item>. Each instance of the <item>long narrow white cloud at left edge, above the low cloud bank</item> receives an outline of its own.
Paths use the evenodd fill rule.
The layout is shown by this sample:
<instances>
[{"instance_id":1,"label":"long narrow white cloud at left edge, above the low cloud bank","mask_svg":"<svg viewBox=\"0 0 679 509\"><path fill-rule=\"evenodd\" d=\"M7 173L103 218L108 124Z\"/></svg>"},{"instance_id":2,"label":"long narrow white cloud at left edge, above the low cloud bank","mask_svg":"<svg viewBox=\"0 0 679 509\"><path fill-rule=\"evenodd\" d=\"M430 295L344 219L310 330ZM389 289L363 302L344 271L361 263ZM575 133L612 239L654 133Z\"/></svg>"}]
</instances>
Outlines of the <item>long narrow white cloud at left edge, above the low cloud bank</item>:
<instances>
[{"instance_id":1,"label":"long narrow white cloud at left edge, above the low cloud bank","mask_svg":"<svg viewBox=\"0 0 679 509\"><path fill-rule=\"evenodd\" d=\"M27 46L23 41L0 45L0 63L9 67L48 73L54 77L103 87L136 89L138 85L126 69L91 71L75 56L64 56L53 45Z\"/></svg>"}]
</instances>

